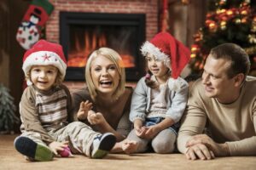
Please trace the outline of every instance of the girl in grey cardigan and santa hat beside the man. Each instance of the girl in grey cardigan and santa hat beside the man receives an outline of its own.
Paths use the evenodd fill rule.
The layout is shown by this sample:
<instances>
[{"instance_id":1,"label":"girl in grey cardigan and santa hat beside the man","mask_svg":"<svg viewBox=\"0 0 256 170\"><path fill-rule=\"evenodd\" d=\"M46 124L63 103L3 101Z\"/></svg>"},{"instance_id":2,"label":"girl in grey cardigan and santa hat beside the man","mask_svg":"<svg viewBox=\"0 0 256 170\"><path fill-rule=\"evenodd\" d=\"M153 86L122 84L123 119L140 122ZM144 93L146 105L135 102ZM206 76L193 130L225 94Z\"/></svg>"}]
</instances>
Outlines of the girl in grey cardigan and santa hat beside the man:
<instances>
[{"instance_id":1,"label":"girl in grey cardigan and santa hat beside the man","mask_svg":"<svg viewBox=\"0 0 256 170\"><path fill-rule=\"evenodd\" d=\"M179 76L189 62L190 52L165 32L145 42L141 51L148 74L137 83L132 95L130 120L134 129L128 139L137 141L136 152L145 152L150 143L156 153L172 153L189 89Z\"/></svg>"}]
</instances>

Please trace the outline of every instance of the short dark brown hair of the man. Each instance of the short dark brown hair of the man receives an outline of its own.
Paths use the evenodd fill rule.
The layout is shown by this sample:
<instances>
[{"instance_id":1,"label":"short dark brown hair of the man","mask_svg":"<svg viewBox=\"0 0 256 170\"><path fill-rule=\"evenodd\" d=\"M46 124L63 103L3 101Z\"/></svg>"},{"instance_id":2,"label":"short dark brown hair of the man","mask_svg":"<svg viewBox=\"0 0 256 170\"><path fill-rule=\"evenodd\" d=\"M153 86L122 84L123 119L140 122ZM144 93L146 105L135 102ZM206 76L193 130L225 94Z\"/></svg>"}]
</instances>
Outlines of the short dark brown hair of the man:
<instances>
[{"instance_id":1,"label":"short dark brown hair of the man","mask_svg":"<svg viewBox=\"0 0 256 170\"><path fill-rule=\"evenodd\" d=\"M230 60L230 69L227 72L229 78L235 77L239 73L245 76L250 70L250 59L243 48L235 43L223 43L212 48L210 55L215 59Z\"/></svg>"}]
</instances>

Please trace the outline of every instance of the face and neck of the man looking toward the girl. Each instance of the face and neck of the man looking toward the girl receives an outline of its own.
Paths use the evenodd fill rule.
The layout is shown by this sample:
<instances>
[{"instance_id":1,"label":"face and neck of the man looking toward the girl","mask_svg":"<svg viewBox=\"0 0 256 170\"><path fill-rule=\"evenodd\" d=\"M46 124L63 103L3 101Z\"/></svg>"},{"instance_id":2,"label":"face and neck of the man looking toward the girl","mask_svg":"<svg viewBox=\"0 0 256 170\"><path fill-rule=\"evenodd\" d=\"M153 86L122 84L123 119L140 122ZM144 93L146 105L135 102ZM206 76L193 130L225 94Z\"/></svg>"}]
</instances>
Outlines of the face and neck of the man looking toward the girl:
<instances>
[{"instance_id":1,"label":"face and neck of the man looking toward the girl","mask_svg":"<svg viewBox=\"0 0 256 170\"><path fill-rule=\"evenodd\" d=\"M206 95L210 98L217 98L221 103L228 102L227 99L232 95L235 87L234 78L227 76L229 68L229 60L214 59L209 55L202 74Z\"/></svg>"}]
</instances>

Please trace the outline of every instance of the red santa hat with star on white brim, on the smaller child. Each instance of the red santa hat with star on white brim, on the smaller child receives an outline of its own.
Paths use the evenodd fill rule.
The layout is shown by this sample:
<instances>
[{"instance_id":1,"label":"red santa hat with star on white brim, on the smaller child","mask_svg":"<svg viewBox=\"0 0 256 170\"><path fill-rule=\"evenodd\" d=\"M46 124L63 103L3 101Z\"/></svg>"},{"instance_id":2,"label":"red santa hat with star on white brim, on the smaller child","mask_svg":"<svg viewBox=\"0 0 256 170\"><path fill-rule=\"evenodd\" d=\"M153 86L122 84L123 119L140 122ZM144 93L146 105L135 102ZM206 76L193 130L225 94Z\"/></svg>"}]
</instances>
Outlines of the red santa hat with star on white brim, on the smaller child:
<instances>
[{"instance_id":1,"label":"red santa hat with star on white brim, on the smaller child","mask_svg":"<svg viewBox=\"0 0 256 170\"><path fill-rule=\"evenodd\" d=\"M32 65L54 65L61 72L61 77L65 77L67 61L65 59L60 44L39 40L28 49L23 57L22 70L27 75Z\"/></svg>"}]
</instances>

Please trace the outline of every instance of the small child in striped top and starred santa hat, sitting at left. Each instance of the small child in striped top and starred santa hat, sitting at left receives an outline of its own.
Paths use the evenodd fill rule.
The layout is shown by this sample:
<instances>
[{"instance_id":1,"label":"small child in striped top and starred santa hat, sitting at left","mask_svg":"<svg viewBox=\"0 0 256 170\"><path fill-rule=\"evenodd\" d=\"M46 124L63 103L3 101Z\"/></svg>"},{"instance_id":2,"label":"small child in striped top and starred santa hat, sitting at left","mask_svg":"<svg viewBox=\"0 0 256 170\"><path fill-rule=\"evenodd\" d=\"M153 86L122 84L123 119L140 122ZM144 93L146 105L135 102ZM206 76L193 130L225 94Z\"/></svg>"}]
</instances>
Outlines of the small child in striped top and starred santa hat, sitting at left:
<instances>
[{"instance_id":1,"label":"small child in striped top and starred santa hat, sitting at left","mask_svg":"<svg viewBox=\"0 0 256 170\"><path fill-rule=\"evenodd\" d=\"M71 95L61 84L66 68L56 43L40 40L24 55L22 69L29 86L20 100L22 134L15 139L15 149L30 161L51 161L70 152L102 158L116 142L113 133L96 133L83 122L73 122Z\"/></svg>"}]
</instances>

